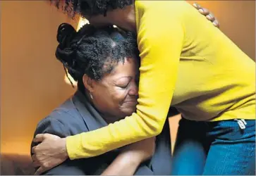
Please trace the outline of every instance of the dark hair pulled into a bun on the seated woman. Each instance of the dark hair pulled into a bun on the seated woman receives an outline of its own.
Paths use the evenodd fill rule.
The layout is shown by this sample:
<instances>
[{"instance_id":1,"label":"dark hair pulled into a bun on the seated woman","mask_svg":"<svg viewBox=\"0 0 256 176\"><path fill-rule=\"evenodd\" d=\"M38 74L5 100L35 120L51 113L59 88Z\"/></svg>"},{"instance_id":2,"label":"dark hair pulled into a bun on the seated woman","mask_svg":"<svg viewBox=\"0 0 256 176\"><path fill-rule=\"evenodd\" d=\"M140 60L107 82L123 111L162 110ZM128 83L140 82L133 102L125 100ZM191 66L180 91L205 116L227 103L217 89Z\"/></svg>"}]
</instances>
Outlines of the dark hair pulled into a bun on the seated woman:
<instances>
[{"instance_id":1,"label":"dark hair pulled into a bun on the seated woman","mask_svg":"<svg viewBox=\"0 0 256 176\"><path fill-rule=\"evenodd\" d=\"M84 74L101 80L104 73L110 73L125 58L139 59L135 34L113 26L96 29L87 24L76 32L71 25L62 23L57 41L56 58L78 84Z\"/></svg>"}]
</instances>

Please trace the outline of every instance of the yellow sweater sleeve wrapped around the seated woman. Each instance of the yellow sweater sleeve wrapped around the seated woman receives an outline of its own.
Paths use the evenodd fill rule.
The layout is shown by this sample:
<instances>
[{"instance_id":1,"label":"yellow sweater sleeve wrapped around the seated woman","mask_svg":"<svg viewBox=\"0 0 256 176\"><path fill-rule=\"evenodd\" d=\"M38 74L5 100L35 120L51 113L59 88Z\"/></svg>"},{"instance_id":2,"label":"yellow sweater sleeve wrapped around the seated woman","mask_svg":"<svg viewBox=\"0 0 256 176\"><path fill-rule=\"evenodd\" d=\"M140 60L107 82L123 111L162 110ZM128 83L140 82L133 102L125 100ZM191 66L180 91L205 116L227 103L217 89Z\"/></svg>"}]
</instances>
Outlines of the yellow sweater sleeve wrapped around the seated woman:
<instances>
[{"instance_id":1,"label":"yellow sweater sleeve wrapped around the seated woman","mask_svg":"<svg viewBox=\"0 0 256 176\"><path fill-rule=\"evenodd\" d=\"M164 126L178 73L183 25L167 8L147 8L138 18L141 66L137 111L99 130L67 137L71 159L98 156L156 136Z\"/></svg>"}]
</instances>

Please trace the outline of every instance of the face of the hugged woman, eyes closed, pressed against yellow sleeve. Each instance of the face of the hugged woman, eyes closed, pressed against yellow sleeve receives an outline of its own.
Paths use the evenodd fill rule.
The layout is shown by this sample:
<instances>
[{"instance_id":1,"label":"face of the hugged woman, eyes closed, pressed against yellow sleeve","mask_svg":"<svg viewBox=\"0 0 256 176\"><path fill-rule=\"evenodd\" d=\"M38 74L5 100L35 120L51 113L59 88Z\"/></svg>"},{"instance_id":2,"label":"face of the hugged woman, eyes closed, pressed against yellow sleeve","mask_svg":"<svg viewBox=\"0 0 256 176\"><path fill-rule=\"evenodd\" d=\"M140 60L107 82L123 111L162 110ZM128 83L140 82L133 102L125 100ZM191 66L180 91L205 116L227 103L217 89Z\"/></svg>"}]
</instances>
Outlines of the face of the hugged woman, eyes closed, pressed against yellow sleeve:
<instances>
[{"instance_id":1,"label":"face of the hugged woman, eyes closed, pressed against yellow sleeve","mask_svg":"<svg viewBox=\"0 0 256 176\"><path fill-rule=\"evenodd\" d=\"M135 58L116 63L102 80L92 80L92 103L112 122L131 115L138 104L138 79L139 65Z\"/></svg>"}]
</instances>

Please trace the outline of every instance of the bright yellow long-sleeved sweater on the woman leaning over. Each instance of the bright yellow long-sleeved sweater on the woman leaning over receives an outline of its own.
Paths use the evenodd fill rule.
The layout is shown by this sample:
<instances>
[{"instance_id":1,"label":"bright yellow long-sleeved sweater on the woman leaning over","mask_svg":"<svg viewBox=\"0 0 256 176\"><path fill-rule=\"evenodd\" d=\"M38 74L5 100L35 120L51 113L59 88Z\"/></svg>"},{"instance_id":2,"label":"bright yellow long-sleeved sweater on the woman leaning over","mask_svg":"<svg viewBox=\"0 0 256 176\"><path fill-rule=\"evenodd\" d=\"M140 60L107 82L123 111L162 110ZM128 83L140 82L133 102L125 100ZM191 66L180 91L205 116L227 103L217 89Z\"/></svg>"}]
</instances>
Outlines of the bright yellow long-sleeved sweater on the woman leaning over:
<instances>
[{"instance_id":1,"label":"bright yellow long-sleeved sweater on the woman leaning over","mask_svg":"<svg viewBox=\"0 0 256 176\"><path fill-rule=\"evenodd\" d=\"M135 1L141 67L136 113L67 138L71 159L156 136L169 107L190 120L255 119L255 62L185 1Z\"/></svg>"}]
</instances>

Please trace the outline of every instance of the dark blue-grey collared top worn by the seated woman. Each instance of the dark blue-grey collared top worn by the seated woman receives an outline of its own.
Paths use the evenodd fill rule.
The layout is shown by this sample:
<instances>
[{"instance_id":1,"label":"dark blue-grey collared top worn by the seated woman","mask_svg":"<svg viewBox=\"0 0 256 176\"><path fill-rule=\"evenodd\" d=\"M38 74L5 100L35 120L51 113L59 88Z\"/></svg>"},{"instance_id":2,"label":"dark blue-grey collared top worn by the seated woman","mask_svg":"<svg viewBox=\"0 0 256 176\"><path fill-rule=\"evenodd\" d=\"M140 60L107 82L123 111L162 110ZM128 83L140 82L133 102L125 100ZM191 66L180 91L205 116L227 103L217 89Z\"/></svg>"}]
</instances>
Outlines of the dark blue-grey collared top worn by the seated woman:
<instances>
[{"instance_id":1,"label":"dark blue-grey collared top worn by the seated woman","mask_svg":"<svg viewBox=\"0 0 256 176\"><path fill-rule=\"evenodd\" d=\"M67 137L97 130L106 125L106 121L97 110L78 91L38 123L35 135L51 133L59 137ZM32 146L35 144L32 143ZM100 175L114 161L119 151L119 149L115 149L101 156L75 161L67 160L56 168L45 172L44 175ZM135 175L170 175L170 173L171 139L169 123L166 120L163 131L157 136L154 156L150 161L142 163Z\"/></svg>"}]
</instances>

